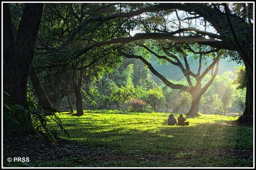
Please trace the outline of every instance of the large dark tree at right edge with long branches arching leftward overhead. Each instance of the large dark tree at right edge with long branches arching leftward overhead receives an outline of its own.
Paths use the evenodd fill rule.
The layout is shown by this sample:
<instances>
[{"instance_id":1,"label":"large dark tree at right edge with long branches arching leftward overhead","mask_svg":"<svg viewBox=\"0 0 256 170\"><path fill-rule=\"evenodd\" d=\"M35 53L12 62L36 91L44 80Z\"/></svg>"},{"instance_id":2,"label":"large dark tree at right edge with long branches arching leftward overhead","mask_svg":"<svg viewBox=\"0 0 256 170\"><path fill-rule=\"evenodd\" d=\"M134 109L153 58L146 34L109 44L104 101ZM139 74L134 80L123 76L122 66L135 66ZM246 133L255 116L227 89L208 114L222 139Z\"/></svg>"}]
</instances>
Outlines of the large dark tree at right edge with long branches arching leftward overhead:
<instances>
[{"instance_id":1,"label":"large dark tree at right edge with long branches arching leftward overhead","mask_svg":"<svg viewBox=\"0 0 256 170\"><path fill-rule=\"evenodd\" d=\"M236 5L236 4L235 4ZM150 10L149 10L150 8ZM248 10L246 10L246 8ZM217 33L201 31L196 28L179 28L176 31L171 31L163 27L155 32L140 33L129 38L119 38L109 41L97 42L85 49L80 50L75 56L80 56L88 52L88 50L101 45L108 45L114 43L129 43L131 41L141 39L169 39L175 42L199 42L200 44L210 45L216 48L236 50L240 57L234 59L242 59L246 67L247 84L246 84L246 108L243 116L240 117L239 122L253 122L253 27L252 27L252 9L253 6L249 3L246 7L242 7L242 14L236 12L233 7L232 10L227 5L214 3L160 3L159 5L152 5L141 8L137 11L113 14L104 19L120 17L131 17L141 14L140 12L147 11L161 11L161 10L181 10L187 11L194 16L187 19L203 18L204 21L209 22L217 31ZM246 15L247 14L247 15ZM97 20L97 19L96 19ZM100 20L100 19L98 19ZM234 25L233 25L234 24ZM187 37L175 36L177 33L194 32L193 35ZM74 32L75 33L75 32ZM208 38L205 38L208 36Z\"/></svg>"}]
</instances>

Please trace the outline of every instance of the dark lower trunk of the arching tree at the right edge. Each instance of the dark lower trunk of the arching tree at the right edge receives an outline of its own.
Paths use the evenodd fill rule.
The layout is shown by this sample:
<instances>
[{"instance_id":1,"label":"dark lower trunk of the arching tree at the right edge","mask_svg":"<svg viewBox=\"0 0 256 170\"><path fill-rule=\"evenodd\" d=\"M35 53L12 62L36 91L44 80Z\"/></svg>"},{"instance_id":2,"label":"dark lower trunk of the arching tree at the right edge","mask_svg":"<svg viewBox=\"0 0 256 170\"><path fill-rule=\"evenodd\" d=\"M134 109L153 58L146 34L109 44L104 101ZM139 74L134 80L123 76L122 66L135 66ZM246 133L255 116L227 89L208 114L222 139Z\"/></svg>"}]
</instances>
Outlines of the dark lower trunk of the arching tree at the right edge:
<instances>
[{"instance_id":1,"label":"dark lower trunk of the arching tree at the right edge","mask_svg":"<svg viewBox=\"0 0 256 170\"><path fill-rule=\"evenodd\" d=\"M245 124L253 126L253 69L247 65L245 62L247 84L246 84L246 102L245 102L245 111L243 115L238 118L238 124Z\"/></svg>"}]
</instances>

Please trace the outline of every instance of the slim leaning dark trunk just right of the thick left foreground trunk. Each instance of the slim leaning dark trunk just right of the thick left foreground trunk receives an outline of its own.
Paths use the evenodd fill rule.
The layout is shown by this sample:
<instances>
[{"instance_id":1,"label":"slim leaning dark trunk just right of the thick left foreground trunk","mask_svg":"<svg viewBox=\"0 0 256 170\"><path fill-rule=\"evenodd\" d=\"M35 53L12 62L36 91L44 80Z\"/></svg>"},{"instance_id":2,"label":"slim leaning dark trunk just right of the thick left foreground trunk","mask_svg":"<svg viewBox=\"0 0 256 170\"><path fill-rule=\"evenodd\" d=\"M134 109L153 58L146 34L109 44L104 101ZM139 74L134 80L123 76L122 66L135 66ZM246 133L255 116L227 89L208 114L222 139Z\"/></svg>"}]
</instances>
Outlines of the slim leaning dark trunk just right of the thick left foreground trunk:
<instances>
[{"instance_id":1,"label":"slim leaning dark trunk just right of the thick left foreground trunk","mask_svg":"<svg viewBox=\"0 0 256 170\"><path fill-rule=\"evenodd\" d=\"M32 84L35 88L35 92L38 95L40 104L42 104L42 106L44 108L52 109L52 104L49 101L48 96L46 95L46 92L44 92L44 88L43 88L35 70L30 71L30 78L31 78Z\"/></svg>"}]
</instances>

